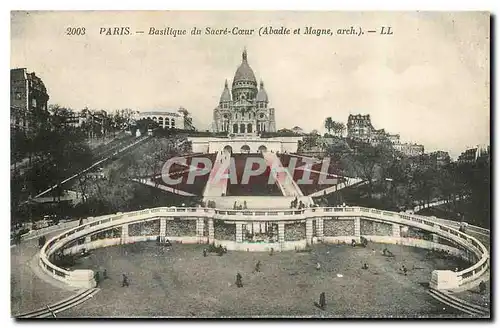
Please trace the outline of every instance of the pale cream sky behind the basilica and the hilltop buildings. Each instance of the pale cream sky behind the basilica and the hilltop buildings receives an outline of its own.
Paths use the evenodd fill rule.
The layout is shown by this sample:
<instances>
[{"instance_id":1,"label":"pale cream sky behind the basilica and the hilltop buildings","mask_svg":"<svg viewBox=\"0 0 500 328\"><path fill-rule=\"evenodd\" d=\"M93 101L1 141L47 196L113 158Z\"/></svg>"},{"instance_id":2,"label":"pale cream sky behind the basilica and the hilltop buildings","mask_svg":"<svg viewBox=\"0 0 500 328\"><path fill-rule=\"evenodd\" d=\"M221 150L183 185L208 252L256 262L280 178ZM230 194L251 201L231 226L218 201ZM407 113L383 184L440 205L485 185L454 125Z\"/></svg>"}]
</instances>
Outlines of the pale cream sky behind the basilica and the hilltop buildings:
<instances>
[{"instance_id":1,"label":"pale cream sky behind the basilica and the hilltop buildings","mask_svg":"<svg viewBox=\"0 0 500 328\"><path fill-rule=\"evenodd\" d=\"M278 129L324 131L328 116L347 123L349 114L370 114L375 128L456 157L489 144L489 24L480 12L13 12L11 68L41 77L49 104L108 111L182 106L205 130L246 47ZM194 26L310 26L334 35L189 35ZM394 34L335 35L351 26L390 26ZM68 27L84 27L85 35L65 35ZM99 34L109 27L132 33ZM188 35L148 35L151 27Z\"/></svg>"}]
</instances>

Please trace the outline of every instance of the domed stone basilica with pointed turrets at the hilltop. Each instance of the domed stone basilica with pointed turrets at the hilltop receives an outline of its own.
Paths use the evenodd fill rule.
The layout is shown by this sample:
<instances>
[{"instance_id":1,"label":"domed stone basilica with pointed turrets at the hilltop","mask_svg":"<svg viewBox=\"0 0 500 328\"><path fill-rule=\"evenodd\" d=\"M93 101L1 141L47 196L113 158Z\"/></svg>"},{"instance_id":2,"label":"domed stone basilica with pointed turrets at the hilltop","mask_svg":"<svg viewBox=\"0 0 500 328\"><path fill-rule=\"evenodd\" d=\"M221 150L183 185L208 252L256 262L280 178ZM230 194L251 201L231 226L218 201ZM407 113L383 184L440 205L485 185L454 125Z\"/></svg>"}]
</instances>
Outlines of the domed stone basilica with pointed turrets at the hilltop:
<instances>
[{"instance_id":1,"label":"domed stone basilica with pointed turrets at the hilltop","mask_svg":"<svg viewBox=\"0 0 500 328\"><path fill-rule=\"evenodd\" d=\"M243 50L241 65L234 75L231 90L227 80L214 109L214 132L227 132L234 136L256 136L261 132L276 132L274 108L264 82L257 87L255 74L248 64L247 51Z\"/></svg>"}]
</instances>

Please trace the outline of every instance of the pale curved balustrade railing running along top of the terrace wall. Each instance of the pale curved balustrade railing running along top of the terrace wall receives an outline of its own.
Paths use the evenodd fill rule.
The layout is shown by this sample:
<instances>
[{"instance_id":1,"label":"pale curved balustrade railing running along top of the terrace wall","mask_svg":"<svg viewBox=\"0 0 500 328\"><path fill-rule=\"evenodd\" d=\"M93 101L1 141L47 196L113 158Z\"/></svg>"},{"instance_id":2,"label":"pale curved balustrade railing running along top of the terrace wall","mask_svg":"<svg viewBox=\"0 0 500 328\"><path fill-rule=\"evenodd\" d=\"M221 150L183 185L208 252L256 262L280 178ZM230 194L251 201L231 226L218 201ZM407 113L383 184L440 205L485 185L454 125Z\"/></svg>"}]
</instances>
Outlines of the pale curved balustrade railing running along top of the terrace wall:
<instances>
[{"instance_id":1,"label":"pale curved balustrade railing running along top of the terrace wall","mask_svg":"<svg viewBox=\"0 0 500 328\"><path fill-rule=\"evenodd\" d=\"M91 234L107 230L116 226L128 225L134 222L145 220L154 220L159 218L197 218L202 221L209 219L212 222L213 233L213 220L225 220L230 222L238 221L295 221L295 220L312 220L317 218L335 218L335 217L353 217L363 219L373 219L380 222L392 223L401 226L416 227L441 237L452 240L454 243L472 252L477 258L477 262L471 267L460 272L453 272L451 278L455 281L454 285L463 286L464 284L477 279L489 268L489 252L487 248L479 242L476 238L462 233L447 225L438 223L437 220L432 218L407 214L395 213L390 211L382 211L364 207L322 207L322 208L305 208L305 209L285 209L285 210L224 210L224 209L211 209L211 208L177 208L177 207L158 207L153 209L146 209L129 213L116 213L113 215L106 215L102 217L89 218L87 223L70 229L58 236L50 239L41 249L39 264L40 267L54 278L69 283L73 286L92 286L93 282L91 270L75 270L68 271L59 268L49 261L52 254L64 248L65 245L85 238ZM284 225L283 223L281 225ZM201 229L200 242L213 241L203 239L203 229ZM241 225L240 225L241 229ZM210 230L210 228L209 228ZM240 230L241 233L241 230ZM236 234L238 234L238 226L236 227ZM312 236L306 233L306 238ZM213 237L212 237L213 238ZM311 238L312 239L312 238ZM238 236L236 236L238 241ZM241 242L241 241L240 241ZM283 244L283 243L281 243ZM285 248L283 248L285 249ZM451 272L451 271L450 271ZM447 272L450 276L450 272ZM433 278L434 279L434 278Z\"/></svg>"}]
</instances>

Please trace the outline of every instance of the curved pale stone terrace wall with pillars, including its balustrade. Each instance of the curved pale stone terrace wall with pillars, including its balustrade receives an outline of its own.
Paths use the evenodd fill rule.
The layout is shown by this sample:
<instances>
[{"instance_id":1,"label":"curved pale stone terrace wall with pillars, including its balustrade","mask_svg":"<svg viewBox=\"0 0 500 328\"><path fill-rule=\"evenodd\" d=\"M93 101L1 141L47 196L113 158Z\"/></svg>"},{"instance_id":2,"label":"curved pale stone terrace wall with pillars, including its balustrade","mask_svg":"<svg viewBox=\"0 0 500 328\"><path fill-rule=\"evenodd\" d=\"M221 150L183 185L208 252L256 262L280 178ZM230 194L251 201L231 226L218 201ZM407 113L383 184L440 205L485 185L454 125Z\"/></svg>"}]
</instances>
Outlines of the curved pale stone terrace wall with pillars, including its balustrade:
<instances>
[{"instance_id":1,"label":"curved pale stone terrace wall with pillars, including its balustrade","mask_svg":"<svg viewBox=\"0 0 500 328\"><path fill-rule=\"evenodd\" d=\"M258 215L257 215L258 213ZM53 278L68 283L75 287L93 287L95 286L95 281L93 280L93 273L91 270L75 270L68 271L55 266L49 261L51 256L61 250L77 252L82 248L92 249L96 247L103 247L109 245L116 245L118 243L125 244L143 240L154 240L158 236L144 236L144 232L141 227L145 228L148 233L155 233L158 231L156 229L157 225L154 221L160 221L160 226L165 220L181 217L181 222L186 220L191 220L195 222L197 231L201 236L181 236L173 237L174 240L186 243L199 243L199 242L217 242L228 247L228 249L234 250L255 250L263 251L269 250L273 247L276 251L298 249L306 247L307 244L311 242L316 242L321 240L320 236L311 237L313 234L313 224L311 220L316 220L317 234L321 235L324 232L324 225L322 225L323 218L351 218L354 221L354 233L356 237L361 234L361 220L371 220L382 222L383 224L392 225L392 236L366 236L367 239L375 242L384 243L397 243L402 245L409 245L414 247L423 248L442 248L448 249L453 254L457 256L464 257L473 264L471 267L459 272L452 272L450 270L435 270L432 274L431 286L437 289L450 289L459 288L463 286L469 286L471 282L477 282L480 280L481 276L489 269L489 252L484 245L482 245L477 239L459 232L449 226L437 223L436 220L430 220L429 218L409 215L404 213L394 213L389 211L380 211L376 209L368 209L362 207L341 207L341 208L311 208L303 210L262 210L258 212L254 211L229 211L229 210L219 210L219 209L207 209L207 208L154 208L148 210L142 210L131 213L117 213L115 215L103 216L100 218L89 218L89 223L82 226L70 229L58 236L50 239L41 249L39 257L39 265L42 270L51 275ZM202 239L204 231L204 220L208 219L208 238ZM143 221L152 221L150 223L144 223L142 225L135 225ZM264 221L264 222L277 222L279 228L279 242L269 243L269 244L251 244L244 242L236 242L232 240L218 240L215 238L214 231L214 221L218 222L217 225L223 221L233 221L238 223L241 227L242 222L251 221ZM306 222L304 222L306 221ZM340 221L340 220L339 220ZM224 224L226 224L225 222ZM323 222L324 223L324 222ZM327 223L328 226L329 223ZM199 227L198 227L199 225ZM229 224L231 226L231 224ZM129 236L129 228L133 226L134 229L138 229L138 236ZM189 224L188 224L189 226ZM382 228L375 228L376 225L372 225L374 232L385 231L384 225L380 225ZM401 226L411 227L407 229L408 236L401 236L403 229ZM120 239L112 238L109 239L96 239L92 241L92 235L98 234L103 231L114 229L117 227L122 228L122 236ZM139 228L138 228L139 227ZM368 227L365 224L365 228ZM329 231L327 228L327 231ZM322 231L323 230L323 231ZM135 230L134 230L135 231ZM160 229L161 231L161 229ZM221 232L225 231L225 232ZM232 230L224 228L219 230L217 235L220 238L232 238L230 234ZM236 231L233 235L236 234ZM440 245L436 243L439 240L434 235L442 238L446 238L448 241L452 240L455 245L450 247L447 245ZM308 237L309 236L309 237ZM430 236L430 237L429 237ZM201 238L200 238L201 237ZM306 237L308 239L306 239ZM299 239L300 240L294 240ZM310 238L310 239L309 239ZM323 237L323 242L335 242L341 241L342 239L349 238L347 236L337 236L337 237ZM430 240L427 240L430 239ZM446 278L446 279L443 279Z\"/></svg>"}]
</instances>

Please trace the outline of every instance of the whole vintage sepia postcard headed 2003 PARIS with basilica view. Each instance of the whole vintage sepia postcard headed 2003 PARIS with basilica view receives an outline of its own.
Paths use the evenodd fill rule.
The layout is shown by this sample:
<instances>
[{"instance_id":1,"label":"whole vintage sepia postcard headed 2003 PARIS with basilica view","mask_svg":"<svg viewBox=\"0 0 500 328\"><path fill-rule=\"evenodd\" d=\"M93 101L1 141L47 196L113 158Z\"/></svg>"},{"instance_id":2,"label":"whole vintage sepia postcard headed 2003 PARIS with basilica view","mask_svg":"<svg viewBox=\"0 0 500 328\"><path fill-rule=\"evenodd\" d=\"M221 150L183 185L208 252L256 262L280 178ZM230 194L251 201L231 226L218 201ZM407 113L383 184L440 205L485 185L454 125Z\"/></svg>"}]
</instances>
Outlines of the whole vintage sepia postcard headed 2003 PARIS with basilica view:
<instances>
[{"instance_id":1,"label":"whole vintage sepia postcard headed 2003 PARIS with basilica view","mask_svg":"<svg viewBox=\"0 0 500 328\"><path fill-rule=\"evenodd\" d=\"M11 315L490 318L490 13L11 12Z\"/></svg>"}]
</instances>

